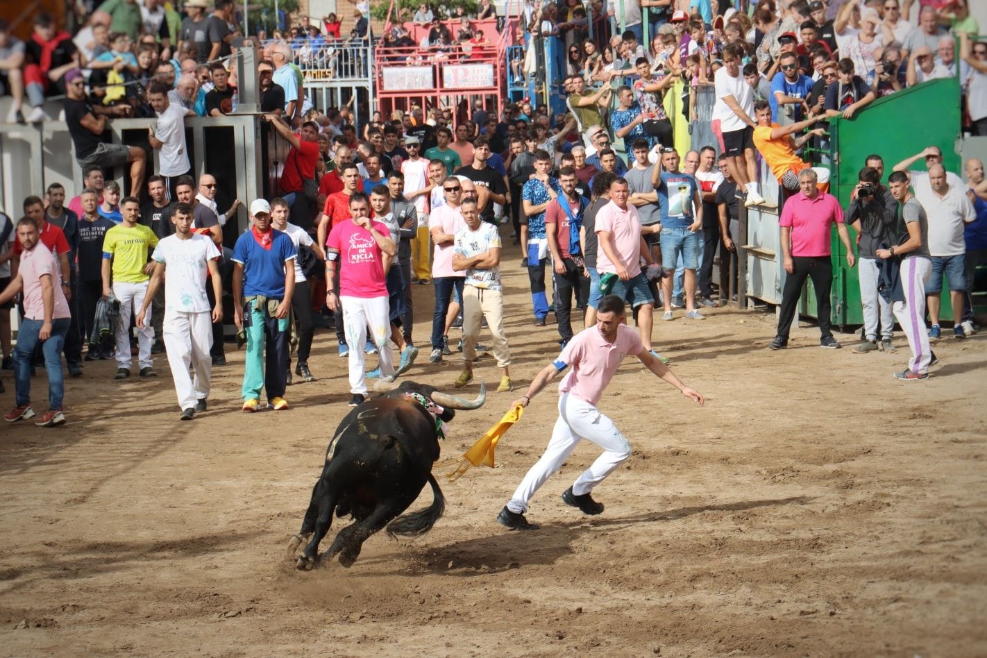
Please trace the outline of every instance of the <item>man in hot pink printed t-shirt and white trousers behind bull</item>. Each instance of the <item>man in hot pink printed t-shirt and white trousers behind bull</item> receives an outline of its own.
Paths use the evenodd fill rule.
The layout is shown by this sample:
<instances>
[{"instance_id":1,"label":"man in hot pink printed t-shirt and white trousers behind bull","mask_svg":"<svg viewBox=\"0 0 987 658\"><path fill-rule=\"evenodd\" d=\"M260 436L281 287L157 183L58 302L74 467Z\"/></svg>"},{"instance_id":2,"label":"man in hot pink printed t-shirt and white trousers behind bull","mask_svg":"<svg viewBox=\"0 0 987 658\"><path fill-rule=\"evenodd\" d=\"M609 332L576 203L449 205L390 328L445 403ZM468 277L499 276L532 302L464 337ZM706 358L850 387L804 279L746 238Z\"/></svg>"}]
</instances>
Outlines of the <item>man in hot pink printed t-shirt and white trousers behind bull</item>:
<instances>
[{"instance_id":1,"label":"man in hot pink printed t-shirt and white trousers behind bull","mask_svg":"<svg viewBox=\"0 0 987 658\"><path fill-rule=\"evenodd\" d=\"M352 217L333 227L326 241L326 280L336 277L340 269L340 296L330 290L326 306L339 312L342 304L342 325L346 344L366 343L367 326L380 354L380 377L386 380L394 374L394 361L387 338L391 335L384 255L397 256L398 246L391 240L387 226L370 219L370 199L360 191L349 196ZM364 350L349 350L350 406L366 400L364 381Z\"/></svg>"}]
</instances>

